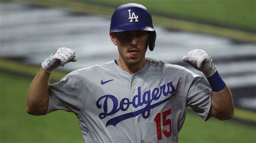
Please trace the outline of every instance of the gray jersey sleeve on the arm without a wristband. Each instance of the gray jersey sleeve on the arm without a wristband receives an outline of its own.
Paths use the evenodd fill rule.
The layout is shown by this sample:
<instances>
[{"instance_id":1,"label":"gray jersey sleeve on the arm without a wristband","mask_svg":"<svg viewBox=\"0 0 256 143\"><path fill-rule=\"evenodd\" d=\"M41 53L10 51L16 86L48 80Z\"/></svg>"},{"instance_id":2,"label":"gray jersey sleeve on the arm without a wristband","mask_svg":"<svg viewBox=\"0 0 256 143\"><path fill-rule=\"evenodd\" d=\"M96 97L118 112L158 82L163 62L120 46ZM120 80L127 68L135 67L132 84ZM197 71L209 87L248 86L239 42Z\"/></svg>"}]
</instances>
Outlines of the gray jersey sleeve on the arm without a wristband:
<instances>
[{"instance_id":1,"label":"gray jersey sleeve on the arm without a wristband","mask_svg":"<svg viewBox=\"0 0 256 143\"><path fill-rule=\"evenodd\" d=\"M46 113L65 110L79 115L83 111L85 82L81 75L70 73L49 85L49 103Z\"/></svg>"}]
</instances>

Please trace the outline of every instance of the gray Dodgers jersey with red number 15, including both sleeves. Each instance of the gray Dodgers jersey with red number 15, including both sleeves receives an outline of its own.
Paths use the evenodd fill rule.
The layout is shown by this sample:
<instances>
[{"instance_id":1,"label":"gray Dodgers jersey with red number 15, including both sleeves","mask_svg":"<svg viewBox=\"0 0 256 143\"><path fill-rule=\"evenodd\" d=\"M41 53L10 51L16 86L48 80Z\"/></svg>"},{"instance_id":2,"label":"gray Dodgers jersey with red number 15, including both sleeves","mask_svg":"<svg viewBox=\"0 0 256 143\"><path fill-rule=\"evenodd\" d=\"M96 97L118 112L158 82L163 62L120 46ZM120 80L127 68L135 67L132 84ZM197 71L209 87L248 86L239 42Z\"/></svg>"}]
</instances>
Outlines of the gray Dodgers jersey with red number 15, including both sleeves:
<instances>
[{"instance_id":1,"label":"gray Dodgers jersey with red number 15, including both sleeves","mask_svg":"<svg viewBox=\"0 0 256 143\"><path fill-rule=\"evenodd\" d=\"M210 117L206 78L147 58L133 75L114 61L72 71L50 85L47 113L75 113L85 142L178 142L186 106Z\"/></svg>"}]
</instances>

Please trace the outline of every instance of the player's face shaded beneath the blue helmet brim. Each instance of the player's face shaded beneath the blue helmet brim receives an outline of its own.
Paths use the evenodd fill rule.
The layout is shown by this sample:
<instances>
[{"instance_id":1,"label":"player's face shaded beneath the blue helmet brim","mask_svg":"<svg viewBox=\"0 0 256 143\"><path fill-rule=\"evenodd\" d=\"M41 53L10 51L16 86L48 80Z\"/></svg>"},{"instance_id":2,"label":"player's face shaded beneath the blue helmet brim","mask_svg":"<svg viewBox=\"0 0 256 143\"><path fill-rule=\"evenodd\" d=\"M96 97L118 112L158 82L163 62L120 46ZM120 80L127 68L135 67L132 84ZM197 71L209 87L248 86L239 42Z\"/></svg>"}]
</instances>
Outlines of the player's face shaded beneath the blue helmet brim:
<instances>
[{"instance_id":1,"label":"player's face shaded beneath the blue helmet brim","mask_svg":"<svg viewBox=\"0 0 256 143\"><path fill-rule=\"evenodd\" d=\"M110 33L110 37L113 44L117 45L118 47L118 60L122 60L127 66L137 66L140 64L144 65L149 32L117 32L114 34Z\"/></svg>"}]
</instances>

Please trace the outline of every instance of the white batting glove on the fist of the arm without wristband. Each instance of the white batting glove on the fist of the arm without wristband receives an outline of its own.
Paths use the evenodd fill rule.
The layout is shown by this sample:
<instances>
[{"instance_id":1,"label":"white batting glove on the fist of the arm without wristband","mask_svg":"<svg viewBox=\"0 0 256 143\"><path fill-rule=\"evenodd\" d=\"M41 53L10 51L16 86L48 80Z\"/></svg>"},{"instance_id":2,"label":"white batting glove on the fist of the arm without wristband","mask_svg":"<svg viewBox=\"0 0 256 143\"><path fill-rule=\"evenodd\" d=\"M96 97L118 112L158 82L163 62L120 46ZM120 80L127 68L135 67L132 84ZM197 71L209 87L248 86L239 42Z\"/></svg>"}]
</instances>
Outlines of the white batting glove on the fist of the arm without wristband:
<instances>
[{"instance_id":1,"label":"white batting glove on the fist of the arm without wristband","mask_svg":"<svg viewBox=\"0 0 256 143\"><path fill-rule=\"evenodd\" d=\"M59 66L64 66L68 62L77 61L75 51L70 48L62 47L54 51L49 58L42 62L42 67L48 73Z\"/></svg>"}]
</instances>

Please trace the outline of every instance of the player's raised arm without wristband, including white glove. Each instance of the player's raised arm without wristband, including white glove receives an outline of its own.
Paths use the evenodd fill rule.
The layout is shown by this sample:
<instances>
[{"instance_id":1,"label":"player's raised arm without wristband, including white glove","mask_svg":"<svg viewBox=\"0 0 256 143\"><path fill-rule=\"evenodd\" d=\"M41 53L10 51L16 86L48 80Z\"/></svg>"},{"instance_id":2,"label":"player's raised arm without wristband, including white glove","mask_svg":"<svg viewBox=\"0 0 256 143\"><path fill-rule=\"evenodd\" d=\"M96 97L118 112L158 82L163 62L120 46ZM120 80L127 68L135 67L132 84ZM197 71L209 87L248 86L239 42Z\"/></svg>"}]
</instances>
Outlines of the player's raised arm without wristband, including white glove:
<instances>
[{"instance_id":1,"label":"player's raised arm without wristband, including white glove","mask_svg":"<svg viewBox=\"0 0 256 143\"><path fill-rule=\"evenodd\" d=\"M64 66L71 61L77 61L75 52L69 48L58 48L49 58L42 62L42 67L30 84L26 98L26 112L31 115L44 115L48 109L49 78L51 71Z\"/></svg>"}]
</instances>

